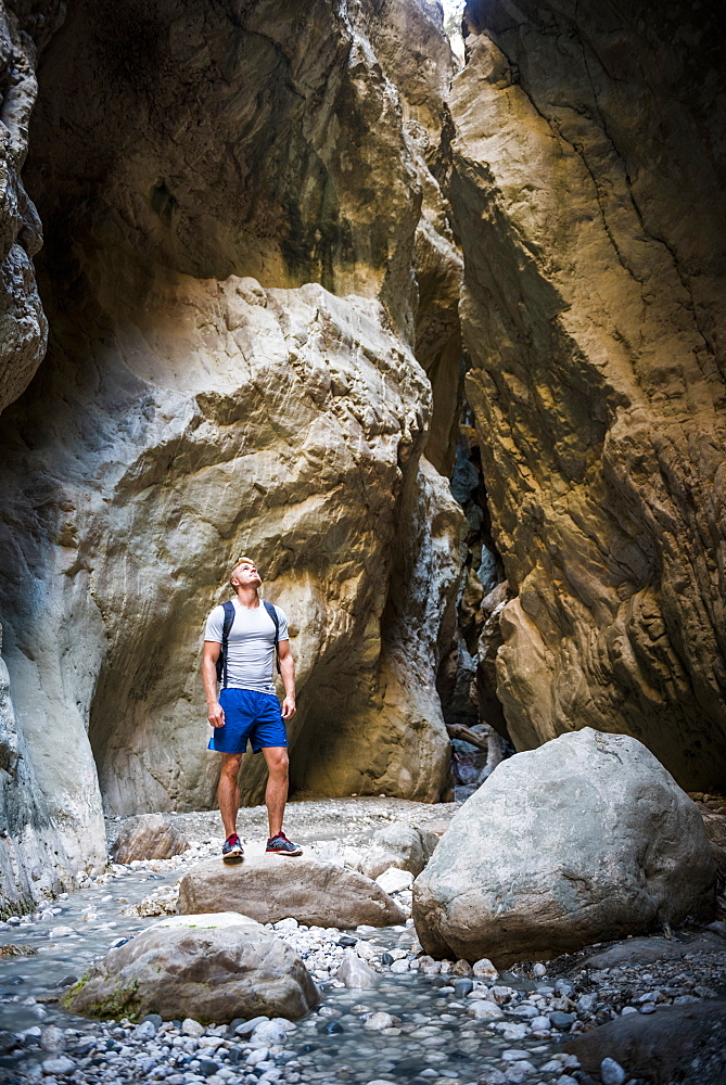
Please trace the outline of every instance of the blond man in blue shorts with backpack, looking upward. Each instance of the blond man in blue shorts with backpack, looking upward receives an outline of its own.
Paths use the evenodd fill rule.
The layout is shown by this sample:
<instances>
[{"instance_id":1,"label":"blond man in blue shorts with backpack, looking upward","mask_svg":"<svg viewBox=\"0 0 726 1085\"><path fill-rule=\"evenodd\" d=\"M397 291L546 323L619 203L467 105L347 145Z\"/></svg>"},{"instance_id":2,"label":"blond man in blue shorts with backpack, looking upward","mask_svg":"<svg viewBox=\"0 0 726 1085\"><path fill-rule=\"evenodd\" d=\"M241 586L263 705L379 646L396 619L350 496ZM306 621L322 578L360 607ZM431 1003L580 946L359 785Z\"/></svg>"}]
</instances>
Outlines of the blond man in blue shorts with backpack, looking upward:
<instances>
[{"instance_id":1,"label":"blond man in blue shorts with backpack, looking upward","mask_svg":"<svg viewBox=\"0 0 726 1085\"><path fill-rule=\"evenodd\" d=\"M303 850L282 831L282 816L288 801L288 733L284 720L295 715L295 663L290 651L288 618L275 608L279 623L278 659L284 686L282 712L272 684L275 622L260 602L262 579L254 561L240 558L230 574L237 591L234 621L227 642L227 681L217 695L217 659L221 649L224 608L215 607L204 634L202 676L214 732L209 750L221 753L221 774L217 799L227 833L221 850L225 863L242 861L242 844L237 834L240 808L239 771L242 754L252 743L253 753L262 750L267 762L265 803L269 821L267 851L276 855L302 855Z\"/></svg>"}]
</instances>

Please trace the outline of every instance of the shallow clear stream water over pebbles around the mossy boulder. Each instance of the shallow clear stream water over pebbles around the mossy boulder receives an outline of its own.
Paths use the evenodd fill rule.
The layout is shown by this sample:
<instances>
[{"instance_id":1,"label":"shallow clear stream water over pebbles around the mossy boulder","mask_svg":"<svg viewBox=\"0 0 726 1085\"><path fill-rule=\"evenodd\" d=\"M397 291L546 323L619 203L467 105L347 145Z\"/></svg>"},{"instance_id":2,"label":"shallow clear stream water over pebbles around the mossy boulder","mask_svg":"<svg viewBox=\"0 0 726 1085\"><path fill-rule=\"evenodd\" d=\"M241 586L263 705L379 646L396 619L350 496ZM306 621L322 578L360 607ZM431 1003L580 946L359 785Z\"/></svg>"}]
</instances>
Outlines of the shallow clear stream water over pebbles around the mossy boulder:
<instances>
[{"instance_id":1,"label":"shallow clear stream water over pebbles around the mossy boulder","mask_svg":"<svg viewBox=\"0 0 726 1085\"><path fill-rule=\"evenodd\" d=\"M64 894L53 902L46 909L44 918L31 923L22 921L0 931L0 945L35 950L27 956L18 954L0 959L0 1029L11 1033L26 1032L23 1051L0 1057L3 1073L0 1080L50 1080L48 1072L43 1076L42 1071L42 1062L49 1052L34 1047L38 1044L39 1032L42 1033L48 1025L56 1025L71 1037L65 1051L71 1057L74 1045L77 1046L84 1035L93 1036L103 1032L104 1026L99 1022L78 1018L63 1010L58 1003L46 1003L44 999L58 997L64 982L68 983L71 976L80 976L93 960L105 955L119 940L131 937L156 922L156 918L128 917L122 912L152 890L173 884L179 875L179 869L168 872L129 870L109 880L101 878L90 888ZM53 915L50 915L50 908ZM326 935L336 943L343 933L331 930ZM359 929L348 932L348 935L370 941L379 953L382 949L410 950L416 939L410 924ZM512 1011L518 999L526 999L533 992L536 993L537 987L543 988L543 995L552 990L547 984L508 974L500 976L499 983L514 988ZM552 1064L552 1055L558 1050L556 1043L525 1038L521 1035L526 1029L522 1018L511 1018L510 1027L504 1030L504 1022L475 1021L469 1012L471 1003L457 997L449 976L384 972L374 990L348 990L332 981L323 981L320 986L323 995L321 1006L296 1023L285 1038L283 1049L272 1049L269 1056L271 1064L281 1069L281 1081L368 1083L420 1080L422 1085L435 1082L457 1085L476 1082L482 1075L493 1083L573 1081L566 1075L561 1076L566 1074L563 1061ZM393 1022L389 1022L385 1034L372 1031L369 1024L370 1016L381 1012L394 1018ZM494 1026L500 1031L493 1031ZM125 1036L132 1036L132 1027L120 1031ZM128 1043L132 1044L132 1041L128 1039ZM235 1065L234 1052L238 1061L244 1054L239 1049L242 1043L230 1034L228 1048L217 1049L218 1071L213 1071L207 1081L254 1082L264 1075L265 1082L275 1080L273 1075L268 1076L269 1063L257 1068ZM145 1046L149 1042L141 1048ZM79 1067L77 1073L71 1072L58 1080L152 1081L171 1077L175 1082L190 1083L204 1080L204 1074L199 1073L199 1059L194 1063L194 1050L189 1050L189 1045L184 1049L167 1044L166 1049L168 1057L162 1057L149 1076L139 1074L138 1069L135 1071L132 1059L127 1058L127 1064L124 1064L123 1059L116 1058L109 1064L97 1060L95 1068L84 1068L81 1072ZM130 1051L130 1048L125 1047L124 1050ZM227 1052L229 1056L225 1060ZM564 1058L560 1056L561 1060ZM527 1060L530 1065L523 1065ZM547 1064L550 1068L547 1072L535 1072ZM552 1067L557 1073L553 1073Z\"/></svg>"}]
</instances>

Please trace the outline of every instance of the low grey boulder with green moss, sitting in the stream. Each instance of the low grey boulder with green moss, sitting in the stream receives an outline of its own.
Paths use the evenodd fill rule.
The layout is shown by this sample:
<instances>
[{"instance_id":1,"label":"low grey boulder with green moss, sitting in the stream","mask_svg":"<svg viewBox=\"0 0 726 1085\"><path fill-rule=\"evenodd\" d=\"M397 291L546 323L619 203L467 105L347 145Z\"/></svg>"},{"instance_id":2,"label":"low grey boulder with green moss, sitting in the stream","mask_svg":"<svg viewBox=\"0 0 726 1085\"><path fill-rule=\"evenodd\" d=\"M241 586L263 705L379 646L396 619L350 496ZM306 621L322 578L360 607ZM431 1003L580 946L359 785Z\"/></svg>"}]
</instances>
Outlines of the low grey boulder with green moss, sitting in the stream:
<instances>
[{"instance_id":1,"label":"low grey boulder with green moss, sitting in the stream","mask_svg":"<svg viewBox=\"0 0 726 1085\"><path fill-rule=\"evenodd\" d=\"M320 1000L297 954L243 915L174 917L112 949L63 998L74 1013L138 1021L300 1018Z\"/></svg>"}]
</instances>

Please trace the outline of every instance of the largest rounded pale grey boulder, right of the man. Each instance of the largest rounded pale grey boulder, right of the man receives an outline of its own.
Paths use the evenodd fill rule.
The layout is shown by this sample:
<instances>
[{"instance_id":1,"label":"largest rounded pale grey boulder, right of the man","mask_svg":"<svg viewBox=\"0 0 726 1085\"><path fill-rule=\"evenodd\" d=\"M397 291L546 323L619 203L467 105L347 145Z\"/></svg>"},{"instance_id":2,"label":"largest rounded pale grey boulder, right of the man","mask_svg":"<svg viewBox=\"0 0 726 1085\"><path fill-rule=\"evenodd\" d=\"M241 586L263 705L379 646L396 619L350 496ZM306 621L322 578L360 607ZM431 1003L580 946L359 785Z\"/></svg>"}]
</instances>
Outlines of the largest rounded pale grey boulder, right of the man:
<instances>
[{"instance_id":1,"label":"largest rounded pale grey boulder, right of the man","mask_svg":"<svg viewBox=\"0 0 726 1085\"><path fill-rule=\"evenodd\" d=\"M715 868L696 805L636 739L584 728L502 762L413 884L433 956L498 967L708 918Z\"/></svg>"}]
</instances>

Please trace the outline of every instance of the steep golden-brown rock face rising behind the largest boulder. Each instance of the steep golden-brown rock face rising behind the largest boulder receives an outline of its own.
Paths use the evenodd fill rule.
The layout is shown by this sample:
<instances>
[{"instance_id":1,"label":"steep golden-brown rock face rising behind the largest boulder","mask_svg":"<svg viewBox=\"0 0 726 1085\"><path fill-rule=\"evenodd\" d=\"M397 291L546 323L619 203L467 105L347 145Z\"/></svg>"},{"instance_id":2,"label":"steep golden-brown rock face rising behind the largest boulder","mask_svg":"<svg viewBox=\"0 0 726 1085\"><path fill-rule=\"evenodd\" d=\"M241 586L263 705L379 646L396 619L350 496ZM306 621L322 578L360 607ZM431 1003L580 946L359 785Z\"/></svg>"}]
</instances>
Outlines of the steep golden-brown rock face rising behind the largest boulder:
<instances>
[{"instance_id":1,"label":"steep golden-brown rock face rising behind the largest boulder","mask_svg":"<svg viewBox=\"0 0 726 1085\"><path fill-rule=\"evenodd\" d=\"M472 0L449 194L518 749L726 778L722 33L672 0Z\"/></svg>"}]
</instances>

